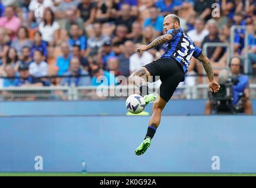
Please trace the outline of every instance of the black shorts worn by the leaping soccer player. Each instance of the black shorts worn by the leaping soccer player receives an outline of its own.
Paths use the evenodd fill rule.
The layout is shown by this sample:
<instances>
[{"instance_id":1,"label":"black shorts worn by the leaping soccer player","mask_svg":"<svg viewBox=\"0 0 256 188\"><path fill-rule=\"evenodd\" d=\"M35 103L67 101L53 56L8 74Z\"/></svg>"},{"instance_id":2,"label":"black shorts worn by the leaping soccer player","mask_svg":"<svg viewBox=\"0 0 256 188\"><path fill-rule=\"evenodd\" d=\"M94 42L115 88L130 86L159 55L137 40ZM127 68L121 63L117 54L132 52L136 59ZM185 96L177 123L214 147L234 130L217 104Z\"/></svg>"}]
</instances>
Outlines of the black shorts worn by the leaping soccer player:
<instances>
[{"instance_id":1,"label":"black shorts worn by the leaping soccer player","mask_svg":"<svg viewBox=\"0 0 256 188\"><path fill-rule=\"evenodd\" d=\"M151 76L160 76L159 95L166 102L170 100L180 82L184 81L185 73L182 65L173 58L157 59L144 66ZM153 82L156 80L153 79Z\"/></svg>"}]
</instances>

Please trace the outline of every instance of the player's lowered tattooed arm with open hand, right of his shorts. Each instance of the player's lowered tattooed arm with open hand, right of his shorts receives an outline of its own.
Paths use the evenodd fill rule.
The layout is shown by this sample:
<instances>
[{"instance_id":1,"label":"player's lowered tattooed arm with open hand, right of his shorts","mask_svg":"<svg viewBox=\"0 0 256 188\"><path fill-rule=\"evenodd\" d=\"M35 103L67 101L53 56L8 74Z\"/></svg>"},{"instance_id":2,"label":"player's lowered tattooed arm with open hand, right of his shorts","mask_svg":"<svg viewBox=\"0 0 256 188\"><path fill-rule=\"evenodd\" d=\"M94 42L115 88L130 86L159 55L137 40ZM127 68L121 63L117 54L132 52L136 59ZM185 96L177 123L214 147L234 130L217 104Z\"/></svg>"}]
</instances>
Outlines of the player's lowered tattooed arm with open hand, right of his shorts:
<instances>
[{"instance_id":1,"label":"player's lowered tattooed arm with open hand, right of his shorts","mask_svg":"<svg viewBox=\"0 0 256 188\"><path fill-rule=\"evenodd\" d=\"M221 86L219 86L219 84L214 80L214 71L212 70L212 65L211 65L209 59L207 58L207 56L203 52L196 59L201 61L203 66L204 66L205 72L206 72L206 74L209 78L209 81L210 81L209 82L209 89L211 90L211 92L214 92L214 93L218 92L219 88Z\"/></svg>"}]
</instances>

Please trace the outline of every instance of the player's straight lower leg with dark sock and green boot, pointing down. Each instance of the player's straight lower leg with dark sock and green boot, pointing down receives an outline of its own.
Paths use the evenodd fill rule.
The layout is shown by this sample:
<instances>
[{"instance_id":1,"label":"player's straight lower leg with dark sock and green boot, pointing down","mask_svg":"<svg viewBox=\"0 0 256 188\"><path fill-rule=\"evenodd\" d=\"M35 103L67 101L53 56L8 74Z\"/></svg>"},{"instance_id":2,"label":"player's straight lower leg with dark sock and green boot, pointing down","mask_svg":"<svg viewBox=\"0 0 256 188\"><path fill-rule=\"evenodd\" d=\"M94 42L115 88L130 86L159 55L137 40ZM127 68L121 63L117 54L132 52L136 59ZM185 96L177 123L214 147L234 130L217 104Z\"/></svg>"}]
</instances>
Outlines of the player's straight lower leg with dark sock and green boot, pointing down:
<instances>
[{"instance_id":1,"label":"player's straight lower leg with dark sock and green boot, pointing down","mask_svg":"<svg viewBox=\"0 0 256 188\"><path fill-rule=\"evenodd\" d=\"M136 155L142 155L143 153L146 152L147 148L150 146L151 140L153 136L156 133L156 129L160 124L161 120L161 113L163 109L165 108L166 101L163 100L160 96L157 102L153 103L153 108L152 108L152 116L150 117L149 120L149 126L147 127L147 133L145 136L145 139L143 142L137 147L135 150Z\"/></svg>"}]
</instances>

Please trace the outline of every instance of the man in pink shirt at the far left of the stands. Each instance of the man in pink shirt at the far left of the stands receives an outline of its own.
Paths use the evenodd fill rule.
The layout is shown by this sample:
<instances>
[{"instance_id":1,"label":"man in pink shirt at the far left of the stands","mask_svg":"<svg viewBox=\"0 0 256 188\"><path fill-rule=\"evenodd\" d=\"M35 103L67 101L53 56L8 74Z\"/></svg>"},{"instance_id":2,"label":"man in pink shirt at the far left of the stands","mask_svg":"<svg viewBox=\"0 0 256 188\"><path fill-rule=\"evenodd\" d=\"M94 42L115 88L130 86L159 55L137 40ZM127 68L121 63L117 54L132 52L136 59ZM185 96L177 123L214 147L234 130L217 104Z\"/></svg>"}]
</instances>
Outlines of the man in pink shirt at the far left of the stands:
<instances>
[{"instance_id":1,"label":"man in pink shirt at the far left of the stands","mask_svg":"<svg viewBox=\"0 0 256 188\"><path fill-rule=\"evenodd\" d=\"M4 28L11 39L14 39L18 28L21 26L21 19L15 16L14 6L5 7L5 16L0 18L0 28Z\"/></svg>"}]
</instances>

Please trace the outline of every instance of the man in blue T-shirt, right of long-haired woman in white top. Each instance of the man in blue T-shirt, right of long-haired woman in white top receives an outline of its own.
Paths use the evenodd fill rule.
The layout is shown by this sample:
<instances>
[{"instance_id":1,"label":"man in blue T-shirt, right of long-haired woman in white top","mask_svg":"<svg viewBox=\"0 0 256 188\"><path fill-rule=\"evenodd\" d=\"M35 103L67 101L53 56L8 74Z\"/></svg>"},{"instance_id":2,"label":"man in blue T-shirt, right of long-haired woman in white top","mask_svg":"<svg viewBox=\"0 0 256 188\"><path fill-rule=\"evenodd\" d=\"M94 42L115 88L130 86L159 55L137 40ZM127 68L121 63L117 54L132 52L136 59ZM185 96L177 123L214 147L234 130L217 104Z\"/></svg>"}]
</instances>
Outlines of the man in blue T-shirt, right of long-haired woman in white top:
<instances>
[{"instance_id":1,"label":"man in blue T-shirt, right of long-haired woman in white top","mask_svg":"<svg viewBox=\"0 0 256 188\"><path fill-rule=\"evenodd\" d=\"M79 26L77 24L72 24L70 28L70 46L78 45L80 46L81 53L84 55L87 48L87 41L83 35L80 35L81 31L79 30Z\"/></svg>"}]
</instances>

